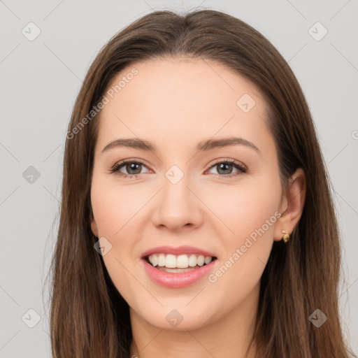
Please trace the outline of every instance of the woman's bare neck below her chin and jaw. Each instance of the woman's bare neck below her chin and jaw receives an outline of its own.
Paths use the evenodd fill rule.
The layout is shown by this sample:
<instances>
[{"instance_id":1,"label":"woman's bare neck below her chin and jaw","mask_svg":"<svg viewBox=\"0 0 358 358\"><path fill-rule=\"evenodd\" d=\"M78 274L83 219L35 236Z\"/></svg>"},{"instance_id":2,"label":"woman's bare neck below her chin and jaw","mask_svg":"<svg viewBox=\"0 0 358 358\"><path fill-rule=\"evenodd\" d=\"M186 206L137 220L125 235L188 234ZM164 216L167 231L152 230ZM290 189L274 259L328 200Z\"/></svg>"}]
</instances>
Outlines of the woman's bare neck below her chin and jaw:
<instances>
[{"instance_id":1,"label":"woman's bare neck below her chin and jaw","mask_svg":"<svg viewBox=\"0 0 358 358\"><path fill-rule=\"evenodd\" d=\"M257 313L259 284L227 315L197 329L165 330L152 326L132 308L131 358L255 358L248 350Z\"/></svg>"}]
</instances>

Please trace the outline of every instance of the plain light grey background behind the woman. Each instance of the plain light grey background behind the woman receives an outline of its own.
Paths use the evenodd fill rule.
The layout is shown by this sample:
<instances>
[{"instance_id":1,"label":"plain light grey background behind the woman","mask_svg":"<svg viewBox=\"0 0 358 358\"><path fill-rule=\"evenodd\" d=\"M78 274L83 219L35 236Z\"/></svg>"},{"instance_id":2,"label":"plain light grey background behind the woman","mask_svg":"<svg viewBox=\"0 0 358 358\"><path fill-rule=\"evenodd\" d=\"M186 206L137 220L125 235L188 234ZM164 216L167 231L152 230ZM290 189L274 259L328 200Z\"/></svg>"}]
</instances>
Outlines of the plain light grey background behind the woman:
<instances>
[{"instance_id":1,"label":"plain light grey background behind the woman","mask_svg":"<svg viewBox=\"0 0 358 358\"><path fill-rule=\"evenodd\" d=\"M358 352L357 0L0 0L0 358L50 357L45 277L57 234L66 126L88 66L113 34L145 13L197 6L224 10L261 31L306 94L342 233L343 327ZM34 41L22 34L29 22L41 29ZM316 22L328 30L320 41L308 32ZM322 35L316 28L315 36ZM38 178L29 177L29 166ZM29 309L39 316L34 328Z\"/></svg>"}]
</instances>

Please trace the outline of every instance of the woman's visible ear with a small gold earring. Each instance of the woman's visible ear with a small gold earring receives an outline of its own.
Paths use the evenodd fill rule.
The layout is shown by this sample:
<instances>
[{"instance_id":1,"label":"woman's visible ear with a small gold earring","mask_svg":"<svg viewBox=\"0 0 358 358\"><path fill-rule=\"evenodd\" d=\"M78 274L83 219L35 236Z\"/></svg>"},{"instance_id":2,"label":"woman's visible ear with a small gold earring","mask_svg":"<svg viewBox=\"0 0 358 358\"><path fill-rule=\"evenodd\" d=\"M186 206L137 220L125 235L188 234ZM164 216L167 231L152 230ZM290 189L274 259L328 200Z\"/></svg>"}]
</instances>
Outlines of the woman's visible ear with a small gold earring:
<instances>
[{"instance_id":1,"label":"woman's visible ear with a small gold earring","mask_svg":"<svg viewBox=\"0 0 358 358\"><path fill-rule=\"evenodd\" d=\"M282 198L281 216L275 227L274 240L280 241L282 230L291 234L299 222L306 199L306 175L302 168L297 169L289 180L287 193Z\"/></svg>"}]
</instances>

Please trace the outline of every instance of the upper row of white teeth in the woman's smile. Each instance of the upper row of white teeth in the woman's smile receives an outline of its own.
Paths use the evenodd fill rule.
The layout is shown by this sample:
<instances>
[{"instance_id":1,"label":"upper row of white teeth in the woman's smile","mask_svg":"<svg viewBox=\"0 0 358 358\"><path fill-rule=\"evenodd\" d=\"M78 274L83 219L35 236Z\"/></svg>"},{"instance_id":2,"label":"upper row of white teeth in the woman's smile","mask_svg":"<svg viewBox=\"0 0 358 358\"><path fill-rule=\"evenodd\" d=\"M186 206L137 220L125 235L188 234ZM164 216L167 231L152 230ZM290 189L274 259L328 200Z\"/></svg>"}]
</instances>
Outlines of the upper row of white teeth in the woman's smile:
<instances>
[{"instance_id":1,"label":"upper row of white teeth in the woman's smile","mask_svg":"<svg viewBox=\"0 0 358 358\"><path fill-rule=\"evenodd\" d=\"M148 257L149 262L153 266L167 267L167 268L187 268L195 266L203 266L203 264L210 264L213 257L203 255L166 255L166 254L153 254Z\"/></svg>"}]
</instances>

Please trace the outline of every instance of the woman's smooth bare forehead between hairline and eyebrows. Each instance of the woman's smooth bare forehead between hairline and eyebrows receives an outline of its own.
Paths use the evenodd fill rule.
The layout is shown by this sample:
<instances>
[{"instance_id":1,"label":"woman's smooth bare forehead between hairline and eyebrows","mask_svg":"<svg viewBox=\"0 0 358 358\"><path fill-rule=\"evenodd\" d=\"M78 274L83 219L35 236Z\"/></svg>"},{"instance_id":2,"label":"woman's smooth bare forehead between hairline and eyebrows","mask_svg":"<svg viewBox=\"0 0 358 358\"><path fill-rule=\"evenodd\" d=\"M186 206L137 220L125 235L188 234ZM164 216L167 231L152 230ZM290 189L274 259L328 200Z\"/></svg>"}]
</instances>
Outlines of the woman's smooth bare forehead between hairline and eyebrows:
<instances>
[{"instance_id":1,"label":"woman's smooth bare forehead between hairline and eyebrows","mask_svg":"<svg viewBox=\"0 0 358 358\"><path fill-rule=\"evenodd\" d=\"M160 58L130 64L111 80L106 97L100 143L125 136L181 145L183 139L197 143L237 134L263 141L268 136L266 103L257 87L207 59Z\"/></svg>"}]
</instances>

